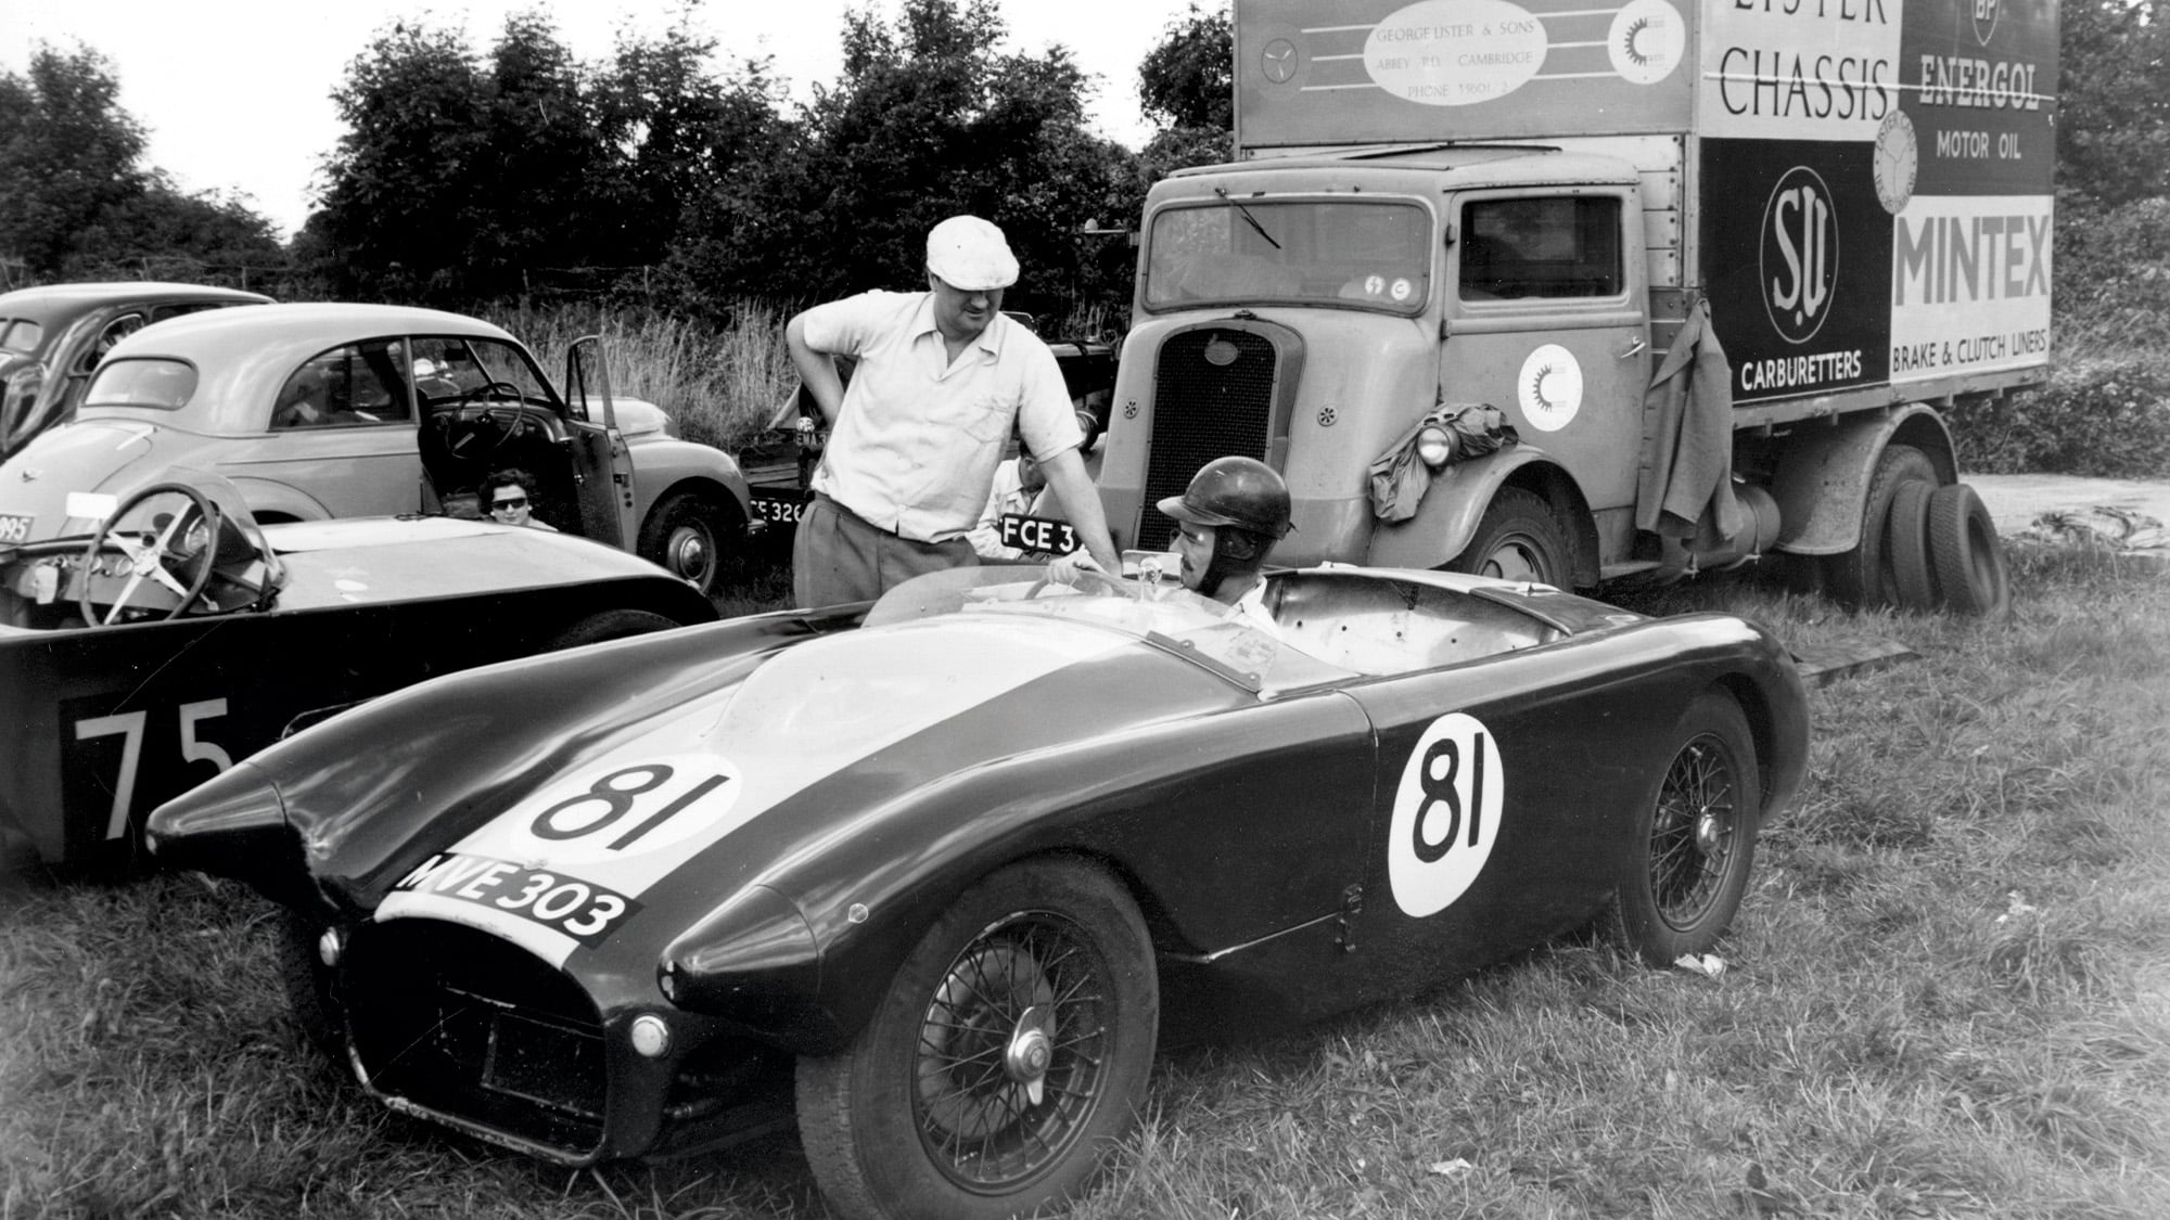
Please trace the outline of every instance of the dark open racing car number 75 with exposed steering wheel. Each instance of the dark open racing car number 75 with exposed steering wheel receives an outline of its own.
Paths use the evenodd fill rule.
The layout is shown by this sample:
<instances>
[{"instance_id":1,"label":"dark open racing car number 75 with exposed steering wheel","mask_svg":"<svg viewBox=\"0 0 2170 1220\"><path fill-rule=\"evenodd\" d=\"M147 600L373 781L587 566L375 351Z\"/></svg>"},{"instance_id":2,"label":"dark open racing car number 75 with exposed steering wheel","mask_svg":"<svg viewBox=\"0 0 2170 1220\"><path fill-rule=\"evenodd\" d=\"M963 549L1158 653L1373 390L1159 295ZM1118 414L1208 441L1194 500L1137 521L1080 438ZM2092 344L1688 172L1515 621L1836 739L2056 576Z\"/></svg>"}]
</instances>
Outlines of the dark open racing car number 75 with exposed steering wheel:
<instances>
[{"instance_id":1,"label":"dark open racing car number 75 with exposed steering wheel","mask_svg":"<svg viewBox=\"0 0 2170 1220\"><path fill-rule=\"evenodd\" d=\"M126 501L78 493L87 536L0 545L0 855L126 864L158 801L326 710L716 619L684 580L571 534L258 528L232 484L180 473Z\"/></svg>"}]
</instances>

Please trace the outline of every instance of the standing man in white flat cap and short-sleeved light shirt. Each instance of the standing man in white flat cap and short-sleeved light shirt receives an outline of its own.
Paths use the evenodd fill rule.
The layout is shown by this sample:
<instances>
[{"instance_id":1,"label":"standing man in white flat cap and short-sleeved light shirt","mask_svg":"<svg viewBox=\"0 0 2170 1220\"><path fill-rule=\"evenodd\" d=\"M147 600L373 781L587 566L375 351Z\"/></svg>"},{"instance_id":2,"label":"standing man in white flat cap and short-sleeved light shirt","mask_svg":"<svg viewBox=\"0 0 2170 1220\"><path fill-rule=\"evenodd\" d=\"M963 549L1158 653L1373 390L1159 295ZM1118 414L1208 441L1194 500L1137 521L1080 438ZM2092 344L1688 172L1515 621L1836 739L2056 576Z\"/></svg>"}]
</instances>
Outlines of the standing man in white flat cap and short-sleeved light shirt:
<instances>
[{"instance_id":1,"label":"standing man in white flat cap and short-sleeved light shirt","mask_svg":"<svg viewBox=\"0 0 2170 1220\"><path fill-rule=\"evenodd\" d=\"M1018 258L1003 230L959 215L927 232L924 293L859 293L783 328L829 423L792 547L799 606L864 601L914 575L979 562L968 534L1011 428L1085 549L1122 571L1055 354L1003 317L1013 282ZM851 389L833 356L859 360Z\"/></svg>"}]
</instances>

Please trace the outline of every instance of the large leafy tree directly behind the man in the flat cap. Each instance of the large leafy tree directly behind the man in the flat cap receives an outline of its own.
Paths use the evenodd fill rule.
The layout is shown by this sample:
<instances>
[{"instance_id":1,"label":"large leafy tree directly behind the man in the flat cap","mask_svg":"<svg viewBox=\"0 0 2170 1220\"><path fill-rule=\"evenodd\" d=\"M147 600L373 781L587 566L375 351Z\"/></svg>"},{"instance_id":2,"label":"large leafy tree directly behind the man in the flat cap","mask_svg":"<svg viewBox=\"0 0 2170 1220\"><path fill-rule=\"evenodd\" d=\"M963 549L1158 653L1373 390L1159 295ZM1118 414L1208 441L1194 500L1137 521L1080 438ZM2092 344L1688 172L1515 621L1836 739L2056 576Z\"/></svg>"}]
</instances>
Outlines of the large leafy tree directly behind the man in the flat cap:
<instances>
[{"instance_id":1,"label":"large leafy tree directly behind the man in the flat cap","mask_svg":"<svg viewBox=\"0 0 2170 1220\"><path fill-rule=\"evenodd\" d=\"M1024 267L1013 308L1098 291L1098 245L1083 252L1072 230L1137 211L1133 158L1085 130L1085 76L1065 50L1007 54L1005 37L990 0L905 0L894 24L848 13L842 78L707 208L681 267L788 300L916 289L927 230L974 213Z\"/></svg>"}]
</instances>

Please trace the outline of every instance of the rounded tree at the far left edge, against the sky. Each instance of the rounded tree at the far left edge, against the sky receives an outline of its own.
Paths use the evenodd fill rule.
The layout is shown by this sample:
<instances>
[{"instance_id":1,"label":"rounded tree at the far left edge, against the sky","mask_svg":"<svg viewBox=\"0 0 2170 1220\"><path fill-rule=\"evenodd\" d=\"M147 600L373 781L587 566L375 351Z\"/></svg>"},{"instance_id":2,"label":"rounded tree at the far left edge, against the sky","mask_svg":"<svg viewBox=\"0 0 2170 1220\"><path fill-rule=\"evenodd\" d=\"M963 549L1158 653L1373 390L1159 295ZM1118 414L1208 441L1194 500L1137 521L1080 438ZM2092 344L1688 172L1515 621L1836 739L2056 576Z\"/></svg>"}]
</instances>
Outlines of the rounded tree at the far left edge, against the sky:
<instances>
[{"instance_id":1,"label":"rounded tree at the far left edge, against the sky","mask_svg":"<svg viewBox=\"0 0 2170 1220\"><path fill-rule=\"evenodd\" d=\"M143 128L119 109L106 59L39 46L28 78L0 76L0 252L56 276L80 232L143 193Z\"/></svg>"}]
</instances>

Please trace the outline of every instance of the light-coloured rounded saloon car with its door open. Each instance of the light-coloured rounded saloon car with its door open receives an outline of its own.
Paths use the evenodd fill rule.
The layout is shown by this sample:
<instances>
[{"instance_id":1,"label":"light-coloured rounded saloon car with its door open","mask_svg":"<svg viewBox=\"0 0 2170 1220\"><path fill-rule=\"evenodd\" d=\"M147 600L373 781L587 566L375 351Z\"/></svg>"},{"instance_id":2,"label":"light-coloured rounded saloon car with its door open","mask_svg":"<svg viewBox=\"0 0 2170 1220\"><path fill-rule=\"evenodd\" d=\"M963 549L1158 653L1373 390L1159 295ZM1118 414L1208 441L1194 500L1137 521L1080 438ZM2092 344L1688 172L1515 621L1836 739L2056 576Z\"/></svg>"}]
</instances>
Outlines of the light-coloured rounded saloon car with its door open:
<instances>
[{"instance_id":1,"label":"light-coloured rounded saloon car with its door open","mask_svg":"<svg viewBox=\"0 0 2170 1220\"><path fill-rule=\"evenodd\" d=\"M640 554L703 593L744 536L729 454L610 395L601 341L560 395L510 334L456 313L282 304L161 323L100 363L76 423L0 467L0 541L82 532L67 493L126 495L169 467L219 473L263 523L477 514L495 469L534 475L536 517Z\"/></svg>"}]
</instances>

